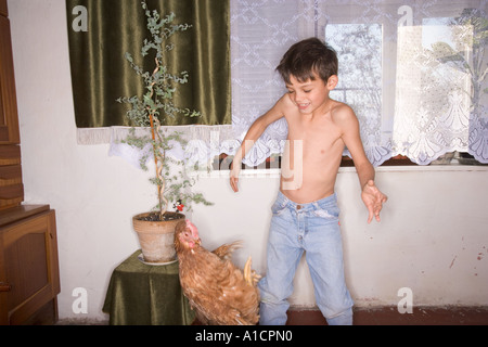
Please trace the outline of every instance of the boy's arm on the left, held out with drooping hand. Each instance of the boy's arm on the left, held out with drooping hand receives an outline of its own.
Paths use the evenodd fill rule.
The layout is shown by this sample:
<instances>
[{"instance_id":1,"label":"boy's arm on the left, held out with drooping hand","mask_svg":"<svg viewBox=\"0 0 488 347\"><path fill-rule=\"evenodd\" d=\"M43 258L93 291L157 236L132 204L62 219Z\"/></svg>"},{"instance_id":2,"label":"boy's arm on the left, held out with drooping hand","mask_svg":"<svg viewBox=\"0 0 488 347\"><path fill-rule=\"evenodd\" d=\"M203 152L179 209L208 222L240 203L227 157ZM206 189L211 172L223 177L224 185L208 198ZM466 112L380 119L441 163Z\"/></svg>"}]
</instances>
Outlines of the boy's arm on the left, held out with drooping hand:
<instances>
[{"instance_id":1,"label":"boy's arm on the left, held out with drooping hand","mask_svg":"<svg viewBox=\"0 0 488 347\"><path fill-rule=\"evenodd\" d=\"M286 94L284 94L270 111L268 111L266 114L257 118L249 127L249 130L247 130L247 133L244 137L244 140L242 141L242 144L239 147L237 152L235 153L234 159L232 160L231 164L230 184L234 192L239 191L237 183L239 183L239 174L241 172L242 159L246 156L246 154L253 147L255 142L261 137L266 128L271 123L284 116L283 103L286 102L285 97Z\"/></svg>"}]
</instances>

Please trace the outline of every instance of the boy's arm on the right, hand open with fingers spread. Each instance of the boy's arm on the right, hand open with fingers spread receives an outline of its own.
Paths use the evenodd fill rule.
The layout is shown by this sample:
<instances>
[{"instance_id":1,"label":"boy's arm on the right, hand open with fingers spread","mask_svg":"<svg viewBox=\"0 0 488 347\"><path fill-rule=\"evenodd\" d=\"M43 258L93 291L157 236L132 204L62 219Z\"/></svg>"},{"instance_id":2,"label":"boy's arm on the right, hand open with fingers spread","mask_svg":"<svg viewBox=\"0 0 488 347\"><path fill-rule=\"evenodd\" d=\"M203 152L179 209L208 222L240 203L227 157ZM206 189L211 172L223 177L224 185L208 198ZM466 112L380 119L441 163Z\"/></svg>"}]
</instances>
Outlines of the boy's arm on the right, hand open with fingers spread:
<instances>
[{"instance_id":1,"label":"boy's arm on the right, hand open with fingers spread","mask_svg":"<svg viewBox=\"0 0 488 347\"><path fill-rule=\"evenodd\" d=\"M361 184L361 198L369 211L368 223L373 220L373 217L380 221L380 211L388 197L374 184L374 168L364 153L358 118L348 106L341 107L334 118L336 118L336 121L343 129L344 143L355 162L356 171L358 172Z\"/></svg>"}]
</instances>

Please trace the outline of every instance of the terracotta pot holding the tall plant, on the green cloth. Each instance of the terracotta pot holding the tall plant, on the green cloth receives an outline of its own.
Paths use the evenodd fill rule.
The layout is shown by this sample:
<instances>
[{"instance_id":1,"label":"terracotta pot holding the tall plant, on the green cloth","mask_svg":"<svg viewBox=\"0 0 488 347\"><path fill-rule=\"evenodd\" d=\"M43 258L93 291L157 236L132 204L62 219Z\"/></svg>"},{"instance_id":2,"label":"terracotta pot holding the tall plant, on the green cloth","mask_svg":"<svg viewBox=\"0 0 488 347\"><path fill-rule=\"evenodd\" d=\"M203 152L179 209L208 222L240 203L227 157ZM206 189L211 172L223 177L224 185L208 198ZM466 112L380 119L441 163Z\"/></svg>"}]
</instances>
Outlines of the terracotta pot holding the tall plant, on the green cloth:
<instances>
[{"instance_id":1,"label":"terracotta pot holding the tall plant, on the green cloth","mask_svg":"<svg viewBox=\"0 0 488 347\"><path fill-rule=\"evenodd\" d=\"M166 213L172 219L164 221L143 220L151 213L132 217L133 230L138 233L145 262L168 262L176 259L175 228L184 217L178 213Z\"/></svg>"}]
</instances>

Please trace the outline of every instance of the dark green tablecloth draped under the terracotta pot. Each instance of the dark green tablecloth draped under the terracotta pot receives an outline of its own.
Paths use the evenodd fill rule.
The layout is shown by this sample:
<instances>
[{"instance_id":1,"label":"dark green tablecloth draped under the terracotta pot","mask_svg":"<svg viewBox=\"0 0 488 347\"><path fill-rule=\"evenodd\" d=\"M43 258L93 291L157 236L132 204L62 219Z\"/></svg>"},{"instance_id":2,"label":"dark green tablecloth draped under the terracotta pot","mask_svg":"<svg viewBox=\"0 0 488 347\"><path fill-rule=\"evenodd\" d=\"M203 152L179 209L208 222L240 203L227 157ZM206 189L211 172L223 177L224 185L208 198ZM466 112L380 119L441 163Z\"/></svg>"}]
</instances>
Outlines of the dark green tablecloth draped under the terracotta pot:
<instances>
[{"instance_id":1,"label":"dark green tablecloth draped under the terracotta pot","mask_svg":"<svg viewBox=\"0 0 488 347\"><path fill-rule=\"evenodd\" d=\"M190 325L195 318L180 286L178 261L141 262L137 250L112 273L103 305L112 325Z\"/></svg>"}]
</instances>

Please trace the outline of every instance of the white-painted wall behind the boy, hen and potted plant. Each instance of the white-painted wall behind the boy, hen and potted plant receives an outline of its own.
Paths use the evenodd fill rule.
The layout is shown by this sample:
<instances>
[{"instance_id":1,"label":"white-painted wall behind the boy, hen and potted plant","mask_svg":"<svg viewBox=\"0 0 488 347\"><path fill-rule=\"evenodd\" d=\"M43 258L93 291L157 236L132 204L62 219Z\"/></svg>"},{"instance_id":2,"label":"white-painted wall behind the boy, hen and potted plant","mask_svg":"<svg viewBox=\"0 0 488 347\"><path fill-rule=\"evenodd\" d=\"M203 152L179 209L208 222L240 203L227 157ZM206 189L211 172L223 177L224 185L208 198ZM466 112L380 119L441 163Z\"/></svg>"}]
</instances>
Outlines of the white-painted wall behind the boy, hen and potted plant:
<instances>
[{"instance_id":1,"label":"white-painted wall behind the boy, hen and potted plant","mask_svg":"<svg viewBox=\"0 0 488 347\"><path fill-rule=\"evenodd\" d=\"M154 205L149 175L108 145L76 143L64 0L9 0L25 203L56 210L62 292L60 318L104 320L112 270L138 249L131 216ZM471 170L470 170L471 169ZM357 176L342 169L346 274L358 306L396 305L410 287L414 305L488 305L488 171L486 168L381 168L377 184L389 201L381 223L367 224ZM209 248L245 241L235 261L253 256L265 271L269 207L278 176L244 177L234 194L227 178L201 178L215 203L192 219ZM299 267L293 305L313 306L306 265ZM88 314L72 310L73 290L85 287Z\"/></svg>"}]
</instances>

